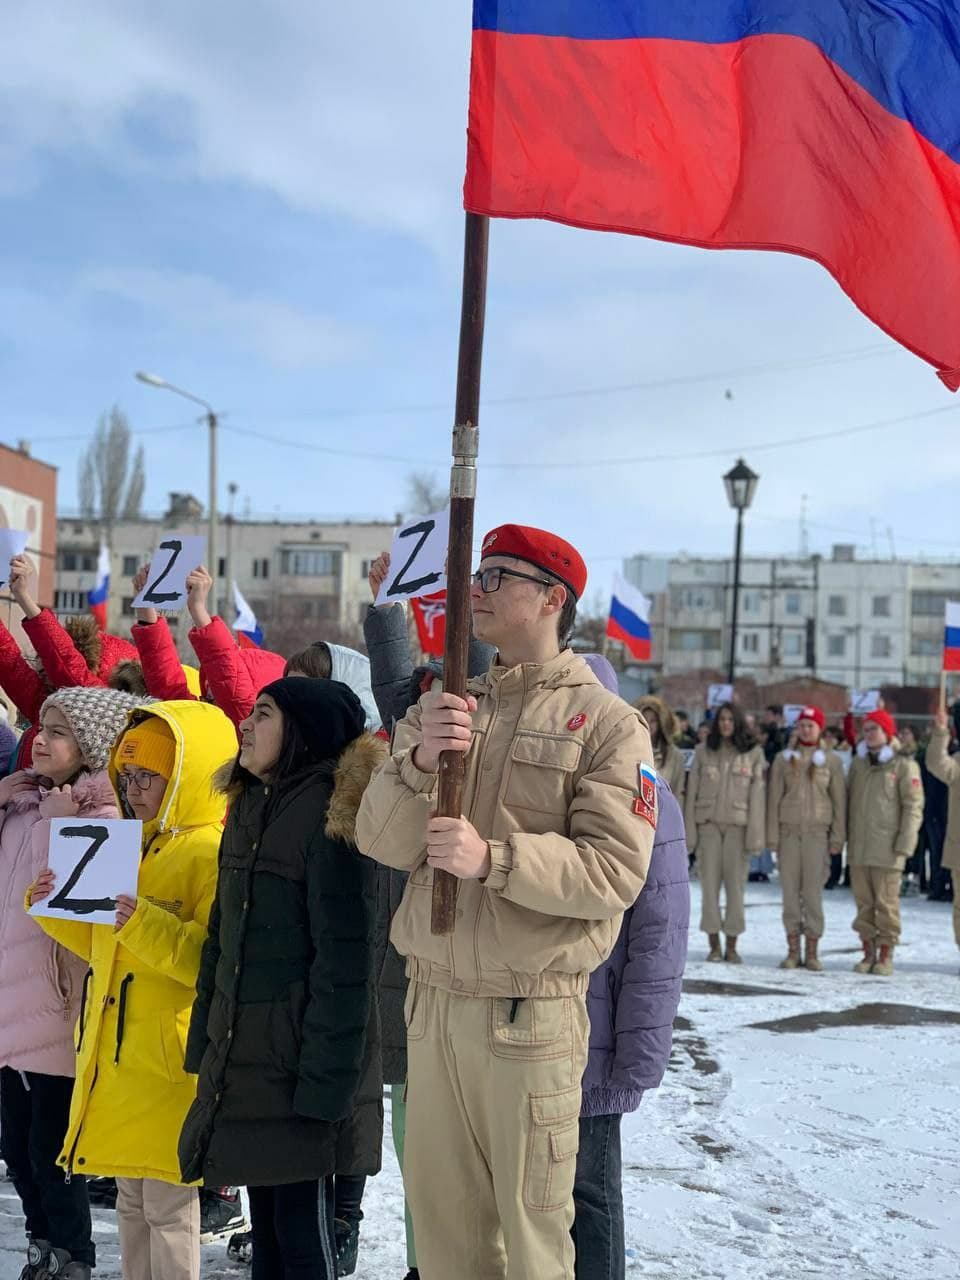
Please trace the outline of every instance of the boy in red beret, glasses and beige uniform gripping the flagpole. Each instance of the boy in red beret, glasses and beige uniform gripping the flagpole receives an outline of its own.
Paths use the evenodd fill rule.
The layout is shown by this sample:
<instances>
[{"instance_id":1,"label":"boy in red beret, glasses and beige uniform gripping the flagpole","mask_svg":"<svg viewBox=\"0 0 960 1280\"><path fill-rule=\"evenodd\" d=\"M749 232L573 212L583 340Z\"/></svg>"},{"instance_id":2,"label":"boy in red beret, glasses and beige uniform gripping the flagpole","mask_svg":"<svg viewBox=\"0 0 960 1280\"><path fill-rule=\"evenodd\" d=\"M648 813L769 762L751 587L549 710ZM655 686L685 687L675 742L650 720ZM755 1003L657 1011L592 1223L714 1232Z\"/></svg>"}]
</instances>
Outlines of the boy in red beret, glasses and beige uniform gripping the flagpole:
<instances>
[{"instance_id":1,"label":"boy in red beret, glasses and beige uniform gripping the flagpole","mask_svg":"<svg viewBox=\"0 0 960 1280\"><path fill-rule=\"evenodd\" d=\"M484 539L474 631L498 658L467 700L430 692L364 796L365 854L410 872L404 1181L424 1280L572 1280L589 977L640 892L655 773L643 718L563 648L577 552L506 525ZM466 817L434 817L440 753L467 754ZM652 791L653 783L653 791ZM460 879L430 932L434 868Z\"/></svg>"}]
</instances>

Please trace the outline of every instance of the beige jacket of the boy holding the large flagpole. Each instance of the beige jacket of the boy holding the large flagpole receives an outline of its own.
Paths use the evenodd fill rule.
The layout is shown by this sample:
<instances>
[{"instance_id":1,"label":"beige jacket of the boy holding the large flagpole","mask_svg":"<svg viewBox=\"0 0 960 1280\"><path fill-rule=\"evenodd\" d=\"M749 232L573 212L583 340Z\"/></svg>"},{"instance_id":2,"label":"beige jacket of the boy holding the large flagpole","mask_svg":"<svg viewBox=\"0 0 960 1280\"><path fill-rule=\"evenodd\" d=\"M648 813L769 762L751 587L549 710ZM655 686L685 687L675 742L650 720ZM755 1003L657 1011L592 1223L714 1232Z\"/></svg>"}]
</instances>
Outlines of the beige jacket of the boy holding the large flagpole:
<instances>
[{"instance_id":1,"label":"beige jacket of the boy holding the large flagpole","mask_svg":"<svg viewBox=\"0 0 960 1280\"><path fill-rule=\"evenodd\" d=\"M494 666L468 689L479 707L463 813L489 840L493 869L484 883L461 881L454 931L434 937L426 820L436 777L411 759L415 707L357 819L361 851L410 872L390 938L408 977L433 987L582 993L646 878L654 827L635 800L650 735L570 650L544 666Z\"/></svg>"}]
</instances>

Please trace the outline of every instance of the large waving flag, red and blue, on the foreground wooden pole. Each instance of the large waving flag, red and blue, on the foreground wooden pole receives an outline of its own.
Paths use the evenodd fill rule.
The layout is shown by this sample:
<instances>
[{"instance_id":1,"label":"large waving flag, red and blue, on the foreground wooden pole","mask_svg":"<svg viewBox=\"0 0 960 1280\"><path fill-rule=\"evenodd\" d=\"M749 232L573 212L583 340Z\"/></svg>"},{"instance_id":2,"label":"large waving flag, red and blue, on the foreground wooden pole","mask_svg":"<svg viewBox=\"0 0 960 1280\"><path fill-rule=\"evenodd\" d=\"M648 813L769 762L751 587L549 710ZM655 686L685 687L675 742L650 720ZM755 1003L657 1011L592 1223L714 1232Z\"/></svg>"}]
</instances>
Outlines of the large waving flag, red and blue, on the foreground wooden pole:
<instances>
[{"instance_id":1,"label":"large waving flag, red and blue, on the foreground wooden pole","mask_svg":"<svg viewBox=\"0 0 960 1280\"><path fill-rule=\"evenodd\" d=\"M960 388L957 0L475 0L467 210L801 253Z\"/></svg>"}]
</instances>

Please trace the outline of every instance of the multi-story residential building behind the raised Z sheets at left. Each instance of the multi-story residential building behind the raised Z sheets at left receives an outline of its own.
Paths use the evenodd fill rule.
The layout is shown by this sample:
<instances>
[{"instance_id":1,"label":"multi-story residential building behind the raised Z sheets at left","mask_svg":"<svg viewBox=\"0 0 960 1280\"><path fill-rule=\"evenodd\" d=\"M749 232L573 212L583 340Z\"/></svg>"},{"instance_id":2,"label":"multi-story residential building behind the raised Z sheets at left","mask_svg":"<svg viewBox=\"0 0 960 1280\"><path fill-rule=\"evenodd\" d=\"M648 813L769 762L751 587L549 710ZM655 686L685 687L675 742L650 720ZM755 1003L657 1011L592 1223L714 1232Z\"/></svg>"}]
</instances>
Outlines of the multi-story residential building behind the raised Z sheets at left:
<instances>
[{"instance_id":1,"label":"multi-story residential building behind the raised Z sheets at left","mask_svg":"<svg viewBox=\"0 0 960 1280\"><path fill-rule=\"evenodd\" d=\"M268 644L287 650L314 639L358 639L370 603L370 562L389 548L393 521L302 522L225 520L220 525L216 585L221 614L233 620L229 600L237 581L266 632ZM110 609L108 626L125 634L133 622L131 579L172 531L206 534L201 504L189 494L170 494L159 518L119 521L110 534ZM100 527L95 522L59 521L59 553L52 605L58 613L86 609L96 576ZM207 566L212 570L211 566ZM184 648L189 617L169 616Z\"/></svg>"}]
</instances>

